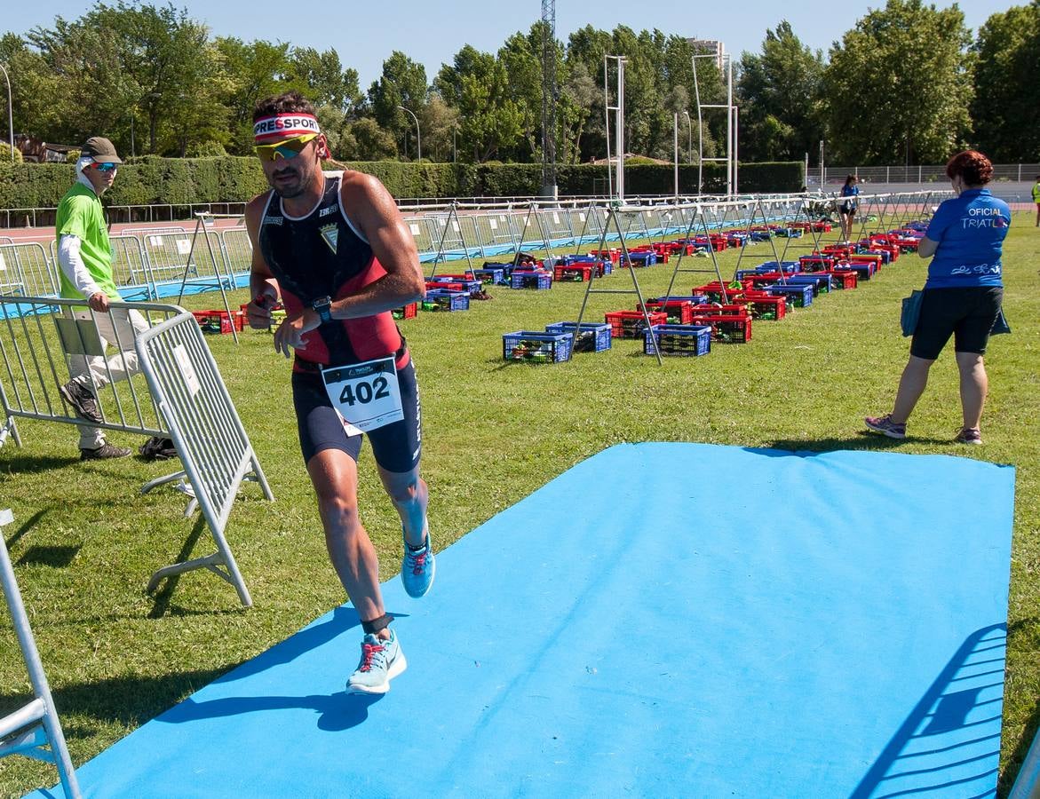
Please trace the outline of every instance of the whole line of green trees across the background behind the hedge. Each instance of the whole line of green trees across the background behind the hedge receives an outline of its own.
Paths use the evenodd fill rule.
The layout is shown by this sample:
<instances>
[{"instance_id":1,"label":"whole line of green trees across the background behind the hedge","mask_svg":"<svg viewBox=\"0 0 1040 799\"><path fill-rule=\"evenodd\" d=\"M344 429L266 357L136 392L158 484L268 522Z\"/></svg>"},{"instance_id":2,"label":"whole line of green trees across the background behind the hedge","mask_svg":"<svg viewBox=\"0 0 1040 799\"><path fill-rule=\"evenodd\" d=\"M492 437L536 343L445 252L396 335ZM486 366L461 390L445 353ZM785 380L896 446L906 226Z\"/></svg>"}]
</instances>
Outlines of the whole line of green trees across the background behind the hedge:
<instances>
[{"instance_id":1,"label":"whole line of green trees across the background behind the hedge","mask_svg":"<svg viewBox=\"0 0 1040 799\"><path fill-rule=\"evenodd\" d=\"M415 159L415 123L402 106L418 118L423 160L537 163L541 26L495 52L466 45L432 79L394 51L362 90L334 49L213 36L172 3L98 2L77 20L5 33L0 63L15 130L51 142L102 131L121 153L244 155L254 103L295 88L317 107L341 160ZM705 111L701 130L695 96L725 102L724 75L699 58L695 86L686 38L588 25L554 44L560 163L606 153L605 55L627 58L629 152L671 160L678 114L681 160L696 160L701 135L705 157L722 155L725 114ZM734 66L742 160L814 161L822 140L828 161L849 164L936 163L967 145L997 161L1040 160L1040 0L992 15L974 35L956 5L888 0L826 58L781 21Z\"/></svg>"}]
</instances>

